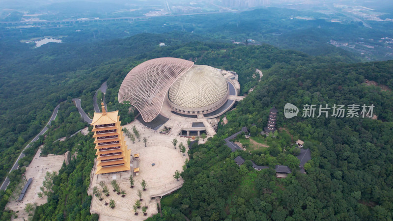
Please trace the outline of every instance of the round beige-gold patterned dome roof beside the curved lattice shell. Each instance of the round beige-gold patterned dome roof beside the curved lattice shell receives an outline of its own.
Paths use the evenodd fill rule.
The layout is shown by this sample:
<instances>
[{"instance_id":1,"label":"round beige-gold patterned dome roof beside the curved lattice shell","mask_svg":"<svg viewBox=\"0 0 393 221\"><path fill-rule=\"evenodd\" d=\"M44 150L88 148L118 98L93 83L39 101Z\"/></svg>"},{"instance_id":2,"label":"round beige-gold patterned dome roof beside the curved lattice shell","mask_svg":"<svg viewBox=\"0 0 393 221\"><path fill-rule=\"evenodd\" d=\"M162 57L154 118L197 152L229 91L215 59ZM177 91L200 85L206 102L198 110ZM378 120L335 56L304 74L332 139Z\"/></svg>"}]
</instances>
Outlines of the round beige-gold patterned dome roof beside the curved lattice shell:
<instances>
[{"instance_id":1,"label":"round beige-gold patterned dome roof beside the curved lattice shell","mask_svg":"<svg viewBox=\"0 0 393 221\"><path fill-rule=\"evenodd\" d=\"M168 91L168 99L185 108L202 108L222 99L228 90L223 75L215 68L194 65Z\"/></svg>"}]
</instances>

